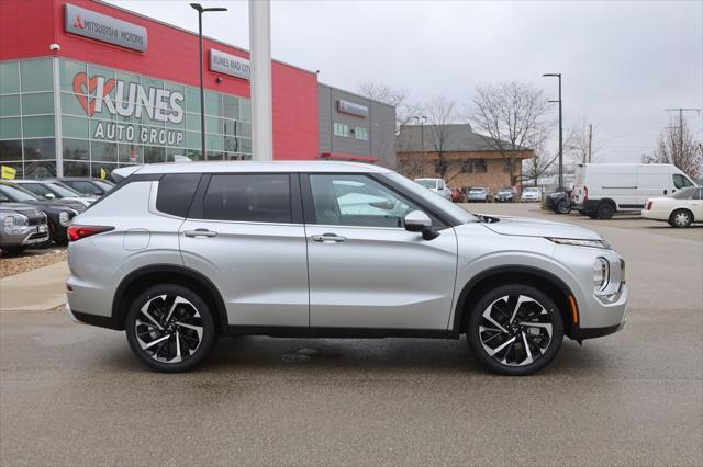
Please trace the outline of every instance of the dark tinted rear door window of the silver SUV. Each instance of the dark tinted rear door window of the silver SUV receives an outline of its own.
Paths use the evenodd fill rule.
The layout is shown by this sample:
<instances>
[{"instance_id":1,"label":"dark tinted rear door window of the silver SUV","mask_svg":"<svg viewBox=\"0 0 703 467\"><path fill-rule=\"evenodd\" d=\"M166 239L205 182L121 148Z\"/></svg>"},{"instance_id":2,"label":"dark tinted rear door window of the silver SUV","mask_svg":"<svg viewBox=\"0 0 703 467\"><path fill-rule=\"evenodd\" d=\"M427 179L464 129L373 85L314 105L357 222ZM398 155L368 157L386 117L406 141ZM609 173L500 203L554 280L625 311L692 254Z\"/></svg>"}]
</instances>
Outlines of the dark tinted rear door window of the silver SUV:
<instances>
[{"instance_id":1,"label":"dark tinted rear door window of the silver SUV","mask_svg":"<svg viewBox=\"0 0 703 467\"><path fill-rule=\"evenodd\" d=\"M244 223L292 221L288 174L212 175L205 193L205 219Z\"/></svg>"}]
</instances>

